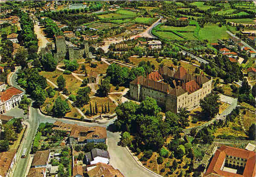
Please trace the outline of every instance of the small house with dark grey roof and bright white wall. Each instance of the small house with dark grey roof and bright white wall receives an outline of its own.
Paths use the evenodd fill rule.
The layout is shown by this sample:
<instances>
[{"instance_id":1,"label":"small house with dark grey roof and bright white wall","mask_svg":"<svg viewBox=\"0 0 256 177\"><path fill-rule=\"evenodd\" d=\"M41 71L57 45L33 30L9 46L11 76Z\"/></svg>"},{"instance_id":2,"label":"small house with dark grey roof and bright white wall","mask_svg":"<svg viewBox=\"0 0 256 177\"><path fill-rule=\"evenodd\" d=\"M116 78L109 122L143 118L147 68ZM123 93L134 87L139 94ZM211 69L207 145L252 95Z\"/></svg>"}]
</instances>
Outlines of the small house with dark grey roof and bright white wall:
<instances>
[{"instance_id":1,"label":"small house with dark grey roof and bright white wall","mask_svg":"<svg viewBox=\"0 0 256 177\"><path fill-rule=\"evenodd\" d=\"M105 164L109 163L109 154L108 151L104 151L98 148L92 149L90 152L85 153L86 164L96 164L102 162Z\"/></svg>"}]
</instances>

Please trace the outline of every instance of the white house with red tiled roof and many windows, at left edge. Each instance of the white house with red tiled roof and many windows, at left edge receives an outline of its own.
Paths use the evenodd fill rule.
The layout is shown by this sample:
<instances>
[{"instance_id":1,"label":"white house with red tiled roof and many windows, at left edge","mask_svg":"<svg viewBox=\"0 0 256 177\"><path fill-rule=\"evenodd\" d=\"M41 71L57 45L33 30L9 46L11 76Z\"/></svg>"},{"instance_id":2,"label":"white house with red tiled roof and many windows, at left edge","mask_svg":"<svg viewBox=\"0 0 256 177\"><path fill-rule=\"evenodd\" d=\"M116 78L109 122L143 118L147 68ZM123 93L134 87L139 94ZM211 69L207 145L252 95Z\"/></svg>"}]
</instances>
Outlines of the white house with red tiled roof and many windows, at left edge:
<instances>
[{"instance_id":1,"label":"white house with red tiled roof and many windows, at left edge","mask_svg":"<svg viewBox=\"0 0 256 177\"><path fill-rule=\"evenodd\" d=\"M1 87L0 87L1 88ZM7 111L11 110L18 104L20 104L20 100L25 92L15 88L10 87L6 89L6 84L0 92L0 113L6 113Z\"/></svg>"}]
</instances>

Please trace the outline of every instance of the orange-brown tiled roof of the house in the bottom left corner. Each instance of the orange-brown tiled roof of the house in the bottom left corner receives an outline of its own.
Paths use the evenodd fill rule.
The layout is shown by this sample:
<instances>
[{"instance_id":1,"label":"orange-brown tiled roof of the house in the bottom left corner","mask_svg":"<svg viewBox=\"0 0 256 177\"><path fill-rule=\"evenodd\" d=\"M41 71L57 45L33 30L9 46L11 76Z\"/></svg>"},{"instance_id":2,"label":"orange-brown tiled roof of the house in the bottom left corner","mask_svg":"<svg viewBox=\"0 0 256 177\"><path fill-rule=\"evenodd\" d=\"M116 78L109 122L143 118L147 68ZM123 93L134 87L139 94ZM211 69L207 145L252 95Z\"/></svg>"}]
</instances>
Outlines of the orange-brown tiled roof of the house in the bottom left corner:
<instances>
[{"instance_id":1,"label":"orange-brown tiled roof of the house in the bottom left corner","mask_svg":"<svg viewBox=\"0 0 256 177\"><path fill-rule=\"evenodd\" d=\"M17 149L0 153L0 176L6 176L16 152Z\"/></svg>"}]
</instances>

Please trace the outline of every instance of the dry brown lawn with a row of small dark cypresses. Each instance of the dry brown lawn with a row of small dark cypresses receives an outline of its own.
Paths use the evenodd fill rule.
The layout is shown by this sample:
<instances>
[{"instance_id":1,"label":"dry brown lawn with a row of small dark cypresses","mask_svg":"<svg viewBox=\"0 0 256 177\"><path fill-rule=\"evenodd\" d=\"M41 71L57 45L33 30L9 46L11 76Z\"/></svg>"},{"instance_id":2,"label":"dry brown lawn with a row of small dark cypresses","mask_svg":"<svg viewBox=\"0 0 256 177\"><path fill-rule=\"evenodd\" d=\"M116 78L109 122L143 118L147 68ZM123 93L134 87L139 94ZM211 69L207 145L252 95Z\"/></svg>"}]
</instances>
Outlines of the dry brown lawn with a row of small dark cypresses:
<instances>
[{"instance_id":1,"label":"dry brown lawn with a row of small dark cypresses","mask_svg":"<svg viewBox=\"0 0 256 177\"><path fill-rule=\"evenodd\" d=\"M102 112L102 104L103 104L103 108L105 110L105 105L107 106L107 110L108 110L108 102L109 102L109 109L110 112L109 113L114 113L115 109L116 109L116 104L114 104L111 99L109 99L108 97L94 97L92 99L90 99L90 103L93 107L95 106L95 102L97 103L97 107L98 107L98 115ZM85 104L81 110L84 110L83 112L85 112L86 110L90 111L90 104Z\"/></svg>"}]
</instances>

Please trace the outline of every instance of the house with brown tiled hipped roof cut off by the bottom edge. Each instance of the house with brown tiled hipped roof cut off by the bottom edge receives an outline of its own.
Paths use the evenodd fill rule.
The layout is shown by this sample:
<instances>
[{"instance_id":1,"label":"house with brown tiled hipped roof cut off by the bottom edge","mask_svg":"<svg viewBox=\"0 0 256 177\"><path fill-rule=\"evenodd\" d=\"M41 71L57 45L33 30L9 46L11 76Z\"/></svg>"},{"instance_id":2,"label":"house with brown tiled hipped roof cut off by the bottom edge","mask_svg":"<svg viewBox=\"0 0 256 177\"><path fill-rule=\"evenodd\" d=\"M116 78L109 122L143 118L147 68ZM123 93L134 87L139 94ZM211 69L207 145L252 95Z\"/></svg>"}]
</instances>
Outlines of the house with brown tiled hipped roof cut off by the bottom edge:
<instances>
[{"instance_id":1,"label":"house with brown tiled hipped roof cut off by the bottom edge","mask_svg":"<svg viewBox=\"0 0 256 177\"><path fill-rule=\"evenodd\" d=\"M88 177L124 177L124 175L111 165L105 163L97 163L86 166L86 174Z\"/></svg>"}]
</instances>

